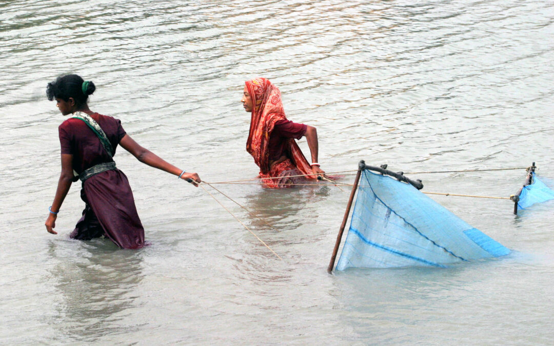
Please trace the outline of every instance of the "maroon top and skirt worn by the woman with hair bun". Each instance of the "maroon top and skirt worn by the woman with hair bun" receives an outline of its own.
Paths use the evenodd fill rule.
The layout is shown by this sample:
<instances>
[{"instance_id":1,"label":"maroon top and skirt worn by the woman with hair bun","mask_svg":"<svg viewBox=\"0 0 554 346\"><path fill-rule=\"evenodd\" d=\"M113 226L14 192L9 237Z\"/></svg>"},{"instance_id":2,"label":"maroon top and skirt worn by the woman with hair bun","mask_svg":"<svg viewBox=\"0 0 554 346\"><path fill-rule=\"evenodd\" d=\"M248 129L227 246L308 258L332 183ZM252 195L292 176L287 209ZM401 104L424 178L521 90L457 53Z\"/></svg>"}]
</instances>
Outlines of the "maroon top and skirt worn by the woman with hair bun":
<instances>
[{"instance_id":1,"label":"maroon top and skirt worn by the woman with hair bun","mask_svg":"<svg viewBox=\"0 0 554 346\"><path fill-rule=\"evenodd\" d=\"M91 117L106 133L115 154L117 144L126 135L121 121L98 113ZM77 173L113 161L95 133L79 119L69 118L61 123L59 137L61 153L73 155L73 169ZM71 238L90 240L104 235L122 249L140 249L145 245L144 228L129 180L123 172L116 168L93 175L82 187L85 209Z\"/></svg>"}]
</instances>

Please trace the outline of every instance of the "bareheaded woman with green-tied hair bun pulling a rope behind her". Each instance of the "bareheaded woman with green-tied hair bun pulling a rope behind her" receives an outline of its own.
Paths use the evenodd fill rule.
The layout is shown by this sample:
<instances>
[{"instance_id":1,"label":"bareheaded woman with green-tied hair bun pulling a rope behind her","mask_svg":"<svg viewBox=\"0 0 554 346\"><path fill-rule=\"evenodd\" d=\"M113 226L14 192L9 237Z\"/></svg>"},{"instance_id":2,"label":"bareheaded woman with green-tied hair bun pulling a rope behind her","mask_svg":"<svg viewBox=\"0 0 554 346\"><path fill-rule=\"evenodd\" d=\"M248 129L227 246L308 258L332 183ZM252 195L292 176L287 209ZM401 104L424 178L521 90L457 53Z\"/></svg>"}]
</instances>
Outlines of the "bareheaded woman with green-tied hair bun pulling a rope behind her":
<instances>
[{"instance_id":1,"label":"bareheaded woman with green-tied hair bun pulling a rope behind her","mask_svg":"<svg viewBox=\"0 0 554 346\"><path fill-rule=\"evenodd\" d=\"M117 144L140 162L177 175L195 186L201 180L198 174L186 173L141 147L125 133L121 121L91 111L87 100L95 89L93 82L84 81L78 75L65 75L48 83L48 99L57 101L62 115L75 115L58 128L61 174L45 226L49 233L57 234L54 231L57 214L71 183L76 181L76 172L83 182L81 199L85 209L70 237L90 240L104 235L123 249L140 249L145 245L144 229L129 181L112 159Z\"/></svg>"}]
</instances>

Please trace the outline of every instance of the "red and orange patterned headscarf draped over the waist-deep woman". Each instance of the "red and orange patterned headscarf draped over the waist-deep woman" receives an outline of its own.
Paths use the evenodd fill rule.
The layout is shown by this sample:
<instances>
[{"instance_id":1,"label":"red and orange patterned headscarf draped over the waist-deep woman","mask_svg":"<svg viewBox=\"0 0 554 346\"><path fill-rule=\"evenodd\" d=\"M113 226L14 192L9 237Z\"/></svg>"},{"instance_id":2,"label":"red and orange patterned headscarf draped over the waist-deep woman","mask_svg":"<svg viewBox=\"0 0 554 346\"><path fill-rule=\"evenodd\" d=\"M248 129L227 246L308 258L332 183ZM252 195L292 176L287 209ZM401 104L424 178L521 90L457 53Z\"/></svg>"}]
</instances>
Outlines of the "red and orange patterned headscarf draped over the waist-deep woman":
<instances>
[{"instance_id":1,"label":"red and orange patterned headscarf draped over the waist-deep woman","mask_svg":"<svg viewBox=\"0 0 554 346\"><path fill-rule=\"evenodd\" d=\"M254 78L246 81L245 84L253 104L246 149L254 157L254 162L260 167L261 173L268 174L269 136L275 122L286 120L281 92L265 78ZM291 161L302 174L312 173L310 164L293 138L288 141L287 151L290 153Z\"/></svg>"}]
</instances>

